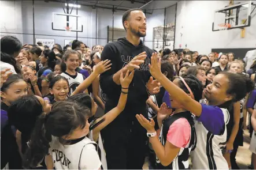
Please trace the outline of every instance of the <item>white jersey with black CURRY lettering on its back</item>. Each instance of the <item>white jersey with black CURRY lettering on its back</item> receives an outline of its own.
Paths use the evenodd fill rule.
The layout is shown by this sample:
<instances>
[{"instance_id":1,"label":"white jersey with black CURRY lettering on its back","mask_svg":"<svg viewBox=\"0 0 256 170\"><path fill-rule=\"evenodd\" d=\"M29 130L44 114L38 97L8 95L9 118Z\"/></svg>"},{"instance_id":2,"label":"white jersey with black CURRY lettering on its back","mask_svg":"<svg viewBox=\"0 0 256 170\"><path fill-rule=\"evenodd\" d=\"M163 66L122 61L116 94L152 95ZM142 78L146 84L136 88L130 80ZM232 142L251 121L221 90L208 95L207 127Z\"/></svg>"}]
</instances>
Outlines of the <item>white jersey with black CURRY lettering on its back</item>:
<instances>
[{"instance_id":1,"label":"white jersey with black CURRY lettering on its back","mask_svg":"<svg viewBox=\"0 0 256 170\"><path fill-rule=\"evenodd\" d=\"M63 145L53 137L49 154L53 157L55 169L99 169L101 160L97 147L97 143L87 137L71 145Z\"/></svg>"}]
</instances>

